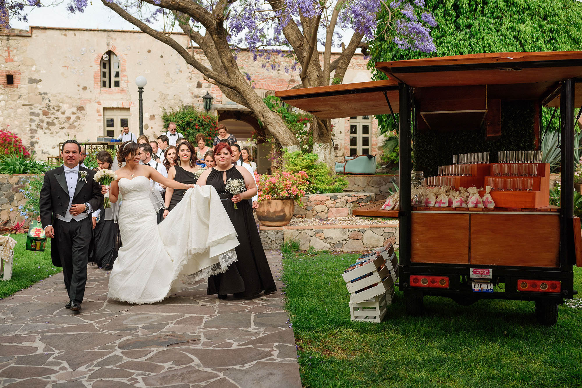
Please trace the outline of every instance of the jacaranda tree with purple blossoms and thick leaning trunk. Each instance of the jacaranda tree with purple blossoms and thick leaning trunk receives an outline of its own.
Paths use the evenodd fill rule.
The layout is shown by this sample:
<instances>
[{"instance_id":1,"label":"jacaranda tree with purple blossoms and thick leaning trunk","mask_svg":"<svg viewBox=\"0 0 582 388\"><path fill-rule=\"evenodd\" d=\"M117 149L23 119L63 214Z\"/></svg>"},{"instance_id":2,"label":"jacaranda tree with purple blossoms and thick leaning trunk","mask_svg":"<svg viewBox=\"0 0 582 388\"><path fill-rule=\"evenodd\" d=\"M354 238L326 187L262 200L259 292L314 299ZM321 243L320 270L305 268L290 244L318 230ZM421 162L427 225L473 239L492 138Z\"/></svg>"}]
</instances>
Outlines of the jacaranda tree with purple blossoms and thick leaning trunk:
<instances>
[{"instance_id":1,"label":"jacaranda tree with purple blossoms and thick leaning trunk","mask_svg":"<svg viewBox=\"0 0 582 388\"><path fill-rule=\"evenodd\" d=\"M58 1L58 0L54 0ZM285 121L269 109L253 89L249 74L240 70L237 53L248 49L255 60L277 69L280 59L290 56L294 64L285 71L298 71L298 87L342 83L347 66L358 48L367 52L367 41L379 28L400 48L431 52L430 27L436 25L424 0L101 0L123 19L144 33L171 46L186 63L217 85L229 99L253 110L276 141L290 150L299 142ZM43 4L46 5L46 4ZM38 0L0 0L0 13L23 19L26 8L40 6ZM70 12L83 12L87 0L72 0ZM377 13L389 17L378 25ZM164 31L150 27L163 18ZM199 46L210 66L201 63L168 31L179 28ZM347 34L347 35L346 35ZM344 36L345 35L345 36ZM321 55L317 45L324 46ZM332 48L341 47L332 59ZM314 152L331 162L331 123L315 119Z\"/></svg>"}]
</instances>

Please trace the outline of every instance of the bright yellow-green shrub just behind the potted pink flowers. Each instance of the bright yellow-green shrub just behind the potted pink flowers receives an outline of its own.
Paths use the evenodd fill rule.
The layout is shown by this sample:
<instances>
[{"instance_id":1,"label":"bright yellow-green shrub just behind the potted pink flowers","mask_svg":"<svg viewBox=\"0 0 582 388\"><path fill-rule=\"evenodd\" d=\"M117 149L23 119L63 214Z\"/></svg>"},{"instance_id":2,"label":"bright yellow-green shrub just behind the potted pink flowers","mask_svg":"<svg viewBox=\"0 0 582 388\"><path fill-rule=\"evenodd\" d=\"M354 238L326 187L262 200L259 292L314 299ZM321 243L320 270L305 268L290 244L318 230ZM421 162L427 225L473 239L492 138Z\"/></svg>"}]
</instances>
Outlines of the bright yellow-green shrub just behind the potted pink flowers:
<instances>
[{"instance_id":1,"label":"bright yellow-green shrub just behind the potted pink flowers","mask_svg":"<svg viewBox=\"0 0 582 388\"><path fill-rule=\"evenodd\" d=\"M332 173L327 164L318 163L317 159L318 156L314 153L285 152L283 153L283 171L287 173L305 171L309 179L307 194L342 192L348 184L346 179Z\"/></svg>"}]
</instances>

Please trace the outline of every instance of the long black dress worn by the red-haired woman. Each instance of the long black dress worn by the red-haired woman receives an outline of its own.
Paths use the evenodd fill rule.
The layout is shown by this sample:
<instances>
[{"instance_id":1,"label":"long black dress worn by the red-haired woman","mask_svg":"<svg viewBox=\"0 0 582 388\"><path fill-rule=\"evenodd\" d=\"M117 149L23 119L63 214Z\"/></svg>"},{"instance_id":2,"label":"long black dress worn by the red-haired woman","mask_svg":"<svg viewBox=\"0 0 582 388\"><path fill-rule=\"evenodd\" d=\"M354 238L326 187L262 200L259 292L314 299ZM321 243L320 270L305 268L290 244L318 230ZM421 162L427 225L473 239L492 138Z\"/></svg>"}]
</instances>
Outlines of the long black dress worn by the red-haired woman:
<instances>
[{"instance_id":1,"label":"long black dress worn by the red-haired woman","mask_svg":"<svg viewBox=\"0 0 582 388\"><path fill-rule=\"evenodd\" d=\"M261 291L274 292L277 287L265 250L258 235L253 209L246 200L237 203L235 209L232 194L225 191L225 179L243 179L243 175L232 167L226 171L212 168L206 184L214 186L222 199L222 204L235 227L240 245L235 248L238 261L231 264L223 274L208 278L207 294L234 294L235 297L255 296Z\"/></svg>"}]
</instances>

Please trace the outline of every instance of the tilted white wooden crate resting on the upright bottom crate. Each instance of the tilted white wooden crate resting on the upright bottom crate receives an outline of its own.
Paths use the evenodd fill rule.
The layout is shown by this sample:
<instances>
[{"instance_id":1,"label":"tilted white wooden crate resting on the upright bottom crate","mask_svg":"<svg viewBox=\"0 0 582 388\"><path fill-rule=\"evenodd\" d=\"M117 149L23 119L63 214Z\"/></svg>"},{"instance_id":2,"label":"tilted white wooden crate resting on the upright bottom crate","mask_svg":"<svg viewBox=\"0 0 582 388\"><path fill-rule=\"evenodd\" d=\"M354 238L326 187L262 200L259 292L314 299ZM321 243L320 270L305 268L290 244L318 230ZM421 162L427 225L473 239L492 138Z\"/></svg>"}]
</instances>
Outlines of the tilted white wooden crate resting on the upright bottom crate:
<instances>
[{"instance_id":1,"label":"tilted white wooden crate resting on the upright bottom crate","mask_svg":"<svg viewBox=\"0 0 582 388\"><path fill-rule=\"evenodd\" d=\"M364 264L361 267L355 268L352 271L343 274L343 280L346 282L347 290L350 292L350 301L353 303L361 303L364 300L369 300L393 287L394 281L390 276L390 271L386 266L380 270L384 264L384 257L378 256L370 263ZM360 276L368 275L363 279L352 282ZM384 281L382 281L384 279ZM375 286L363 290L368 286Z\"/></svg>"}]
</instances>

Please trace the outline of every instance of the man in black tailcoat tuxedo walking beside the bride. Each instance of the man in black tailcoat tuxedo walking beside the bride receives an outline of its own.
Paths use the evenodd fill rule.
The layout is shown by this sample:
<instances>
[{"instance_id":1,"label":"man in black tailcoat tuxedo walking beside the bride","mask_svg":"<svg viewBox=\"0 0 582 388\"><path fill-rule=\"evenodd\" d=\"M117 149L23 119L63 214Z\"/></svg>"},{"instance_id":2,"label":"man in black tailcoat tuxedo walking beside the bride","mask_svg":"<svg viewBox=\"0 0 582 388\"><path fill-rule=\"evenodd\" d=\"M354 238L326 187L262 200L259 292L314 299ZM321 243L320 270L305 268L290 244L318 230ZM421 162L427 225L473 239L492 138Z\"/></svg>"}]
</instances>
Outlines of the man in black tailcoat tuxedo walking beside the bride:
<instances>
[{"instance_id":1,"label":"man in black tailcoat tuxedo walking beside the bride","mask_svg":"<svg viewBox=\"0 0 582 388\"><path fill-rule=\"evenodd\" d=\"M63 267L72 311L81 310L87 283L87 259L93 240L91 212L103 202L95 171L79 166L81 146L75 140L63 143L63 166L44 174L40 191L40 219L52 238L52 264Z\"/></svg>"}]
</instances>

